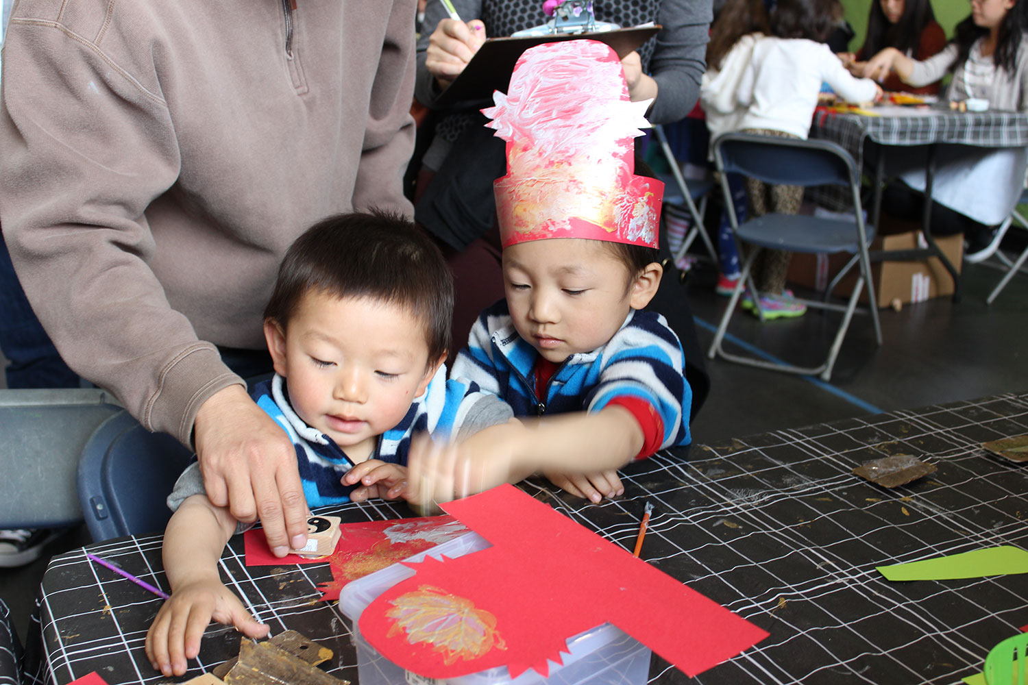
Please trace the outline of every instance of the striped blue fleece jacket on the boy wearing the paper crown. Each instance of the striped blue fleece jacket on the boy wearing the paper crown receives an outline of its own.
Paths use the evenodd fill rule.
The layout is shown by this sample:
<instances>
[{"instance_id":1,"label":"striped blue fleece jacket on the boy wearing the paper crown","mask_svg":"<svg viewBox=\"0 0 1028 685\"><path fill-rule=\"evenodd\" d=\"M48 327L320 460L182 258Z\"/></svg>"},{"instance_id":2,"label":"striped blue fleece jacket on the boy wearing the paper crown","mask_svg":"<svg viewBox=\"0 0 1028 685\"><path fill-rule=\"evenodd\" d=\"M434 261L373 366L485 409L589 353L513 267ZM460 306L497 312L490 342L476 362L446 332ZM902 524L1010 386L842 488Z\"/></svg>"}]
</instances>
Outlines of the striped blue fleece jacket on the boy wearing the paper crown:
<instances>
[{"instance_id":1,"label":"striped blue fleece jacket on the boy wearing the paper crown","mask_svg":"<svg viewBox=\"0 0 1028 685\"><path fill-rule=\"evenodd\" d=\"M598 412L615 397L638 397L653 405L664 423L659 449L692 441L685 353L660 314L631 311L605 345L568 356L542 397L534 391L537 357L536 348L514 329L507 301L501 300L479 315L450 378L500 395L515 416Z\"/></svg>"}]
</instances>

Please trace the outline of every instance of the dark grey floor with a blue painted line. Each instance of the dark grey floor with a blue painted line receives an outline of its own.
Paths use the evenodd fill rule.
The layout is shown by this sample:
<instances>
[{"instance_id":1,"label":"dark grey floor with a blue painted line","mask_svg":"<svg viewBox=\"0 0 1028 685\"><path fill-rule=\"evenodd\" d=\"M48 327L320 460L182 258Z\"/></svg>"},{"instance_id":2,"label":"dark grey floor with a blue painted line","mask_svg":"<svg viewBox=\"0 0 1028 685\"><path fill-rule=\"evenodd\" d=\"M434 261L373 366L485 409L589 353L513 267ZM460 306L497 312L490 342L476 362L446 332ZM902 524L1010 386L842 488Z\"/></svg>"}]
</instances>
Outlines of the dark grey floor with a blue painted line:
<instances>
[{"instance_id":1,"label":"dark grey floor with a blue painted line","mask_svg":"<svg viewBox=\"0 0 1028 685\"><path fill-rule=\"evenodd\" d=\"M1018 245L1020 249L1020 245ZM884 343L874 345L870 320L855 317L831 384L814 379L708 361L712 390L692 425L695 443L798 427L823 421L923 405L1024 390L1028 386L1028 275L1016 277L991 307L985 298L998 271L965 265L964 297L882 310ZM682 287L697 319L700 342L709 345L727 304L713 294L714 274L699 267ZM741 313L730 332L760 340L787 359L821 354L837 315L808 313L799 319L761 325ZM809 358L809 357L808 357ZM49 555L87 543L88 533L72 530L48 545L38 562L0 570L0 598L11 607L25 637L33 598Z\"/></svg>"}]
</instances>

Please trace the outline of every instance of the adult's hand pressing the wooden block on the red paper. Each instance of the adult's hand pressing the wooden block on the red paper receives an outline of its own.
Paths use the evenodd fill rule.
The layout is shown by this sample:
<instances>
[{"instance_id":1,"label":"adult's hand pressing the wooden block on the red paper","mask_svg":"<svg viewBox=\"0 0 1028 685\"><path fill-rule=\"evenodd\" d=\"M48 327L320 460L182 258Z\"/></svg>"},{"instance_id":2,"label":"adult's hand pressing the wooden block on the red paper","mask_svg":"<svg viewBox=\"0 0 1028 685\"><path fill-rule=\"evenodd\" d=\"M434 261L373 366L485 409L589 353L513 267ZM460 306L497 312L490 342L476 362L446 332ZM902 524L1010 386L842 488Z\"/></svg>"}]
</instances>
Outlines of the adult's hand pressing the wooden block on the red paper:
<instances>
[{"instance_id":1,"label":"adult's hand pressing the wooden block on the red paper","mask_svg":"<svg viewBox=\"0 0 1028 685\"><path fill-rule=\"evenodd\" d=\"M260 519L276 557L303 547L307 505L289 436L240 385L214 393L193 424L207 496L237 521Z\"/></svg>"}]
</instances>

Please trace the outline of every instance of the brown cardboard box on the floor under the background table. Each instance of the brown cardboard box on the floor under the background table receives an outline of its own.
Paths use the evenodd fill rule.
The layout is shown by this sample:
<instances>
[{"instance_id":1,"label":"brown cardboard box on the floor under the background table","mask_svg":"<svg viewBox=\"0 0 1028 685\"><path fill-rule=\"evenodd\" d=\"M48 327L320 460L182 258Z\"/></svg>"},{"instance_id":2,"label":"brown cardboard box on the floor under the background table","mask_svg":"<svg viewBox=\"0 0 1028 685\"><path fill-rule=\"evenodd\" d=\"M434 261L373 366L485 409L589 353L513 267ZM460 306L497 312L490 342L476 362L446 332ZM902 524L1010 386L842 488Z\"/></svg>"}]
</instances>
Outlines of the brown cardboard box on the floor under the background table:
<instances>
[{"instance_id":1,"label":"brown cardboard box on the floor under the background table","mask_svg":"<svg viewBox=\"0 0 1028 685\"><path fill-rule=\"evenodd\" d=\"M935 237L935 242L960 272L963 257L963 234ZM926 248L921 231L907 231L894 235L878 235L871 250L912 250ZM822 292L832 277L849 261L850 255L793 255L788 265L787 280L797 286ZM833 291L836 296L848 296L859 269L854 266ZM888 307L894 300L903 304L923 302L933 297L953 294L953 278L938 257L920 261L872 262L871 273L879 307ZM868 291L860 293L860 302L867 304Z\"/></svg>"}]
</instances>

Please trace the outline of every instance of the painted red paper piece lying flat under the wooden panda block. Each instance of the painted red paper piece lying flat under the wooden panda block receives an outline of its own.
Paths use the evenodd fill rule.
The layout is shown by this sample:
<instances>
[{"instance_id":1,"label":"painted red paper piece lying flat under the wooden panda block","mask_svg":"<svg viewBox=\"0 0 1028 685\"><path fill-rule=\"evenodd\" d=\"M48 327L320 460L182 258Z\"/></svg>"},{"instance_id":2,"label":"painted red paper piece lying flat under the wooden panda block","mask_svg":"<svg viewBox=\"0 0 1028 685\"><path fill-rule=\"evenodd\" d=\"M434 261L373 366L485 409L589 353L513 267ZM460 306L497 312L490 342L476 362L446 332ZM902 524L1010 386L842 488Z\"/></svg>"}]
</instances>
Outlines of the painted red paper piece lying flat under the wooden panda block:
<instances>
[{"instance_id":1,"label":"painted red paper piece lying flat under the wooden panda block","mask_svg":"<svg viewBox=\"0 0 1028 685\"><path fill-rule=\"evenodd\" d=\"M246 565L283 566L328 562L332 580L318 587L322 591L323 600L338 600L339 591L351 580L463 535L468 529L453 517L442 516L342 524L339 531L342 535L335 551L329 557L309 559L287 555L279 559L268 548L264 531L248 530L243 534Z\"/></svg>"}]
</instances>

